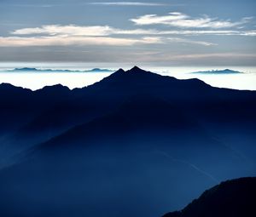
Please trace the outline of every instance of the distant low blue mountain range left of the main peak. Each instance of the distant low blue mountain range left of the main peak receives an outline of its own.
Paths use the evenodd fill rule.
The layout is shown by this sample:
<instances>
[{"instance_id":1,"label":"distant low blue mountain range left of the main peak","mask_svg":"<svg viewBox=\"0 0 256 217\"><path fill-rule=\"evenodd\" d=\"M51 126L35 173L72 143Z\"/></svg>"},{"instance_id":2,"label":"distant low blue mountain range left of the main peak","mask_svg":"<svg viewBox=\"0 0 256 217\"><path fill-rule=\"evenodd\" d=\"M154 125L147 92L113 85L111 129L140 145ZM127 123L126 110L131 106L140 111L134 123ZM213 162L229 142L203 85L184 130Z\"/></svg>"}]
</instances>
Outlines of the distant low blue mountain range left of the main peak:
<instances>
[{"instance_id":1,"label":"distant low blue mountain range left of the main peak","mask_svg":"<svg viewBox=\"0 0 256 217\"><path fill-rule=\"evenodd\" d=\"M9 70L13 72L28 72L28 71L39 71L39 72L113 72L113 70L109 69L100 69L94 68L91 70L79 71L79 70L59 70L59 69L38 69L38 68L15 68L13 70Z\"/></svg>"}]
</instances>

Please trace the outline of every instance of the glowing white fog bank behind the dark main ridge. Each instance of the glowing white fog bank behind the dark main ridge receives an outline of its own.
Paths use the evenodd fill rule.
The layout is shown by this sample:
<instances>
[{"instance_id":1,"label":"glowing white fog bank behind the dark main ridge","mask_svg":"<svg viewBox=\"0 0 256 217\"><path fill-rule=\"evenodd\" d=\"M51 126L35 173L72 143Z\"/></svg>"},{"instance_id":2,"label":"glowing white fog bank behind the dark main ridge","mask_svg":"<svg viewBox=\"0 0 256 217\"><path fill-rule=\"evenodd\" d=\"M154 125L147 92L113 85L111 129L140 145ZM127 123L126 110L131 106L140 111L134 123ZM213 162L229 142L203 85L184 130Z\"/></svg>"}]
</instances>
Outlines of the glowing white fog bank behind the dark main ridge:
<instances>
[{"instance_id":1,"label":"glowing white fog bank behind the dark main ridge","mask_svg":"<svg viewBox=\"0 0 256 217\"><path fill-rule=\"evenodd\" d=\"M104 77L108 77L110 72L40 72L40 71L9 71L15 68L35 67L38 69L58 69L58 70L90 70L93 68L108 68L118 70L120 67L125 70L130 66L126 64L119 66L102 64L82 64L82 63L1 63L0 83L11 83L17 87L26 89L42 89L44 86L51 86L61 83L69 89L83 88L96 83ZM154 67L143 66L148 71L153 71L164 76L177 77L179 79L199 78L202 81L218 88L228 89L249 89L256 90L256 68L237 66L208 66L208 67ZM241 74L206 75L193 74L195 71L224 70L229 68L234 71L242 71Z\"/></svg>"}]
</instances>

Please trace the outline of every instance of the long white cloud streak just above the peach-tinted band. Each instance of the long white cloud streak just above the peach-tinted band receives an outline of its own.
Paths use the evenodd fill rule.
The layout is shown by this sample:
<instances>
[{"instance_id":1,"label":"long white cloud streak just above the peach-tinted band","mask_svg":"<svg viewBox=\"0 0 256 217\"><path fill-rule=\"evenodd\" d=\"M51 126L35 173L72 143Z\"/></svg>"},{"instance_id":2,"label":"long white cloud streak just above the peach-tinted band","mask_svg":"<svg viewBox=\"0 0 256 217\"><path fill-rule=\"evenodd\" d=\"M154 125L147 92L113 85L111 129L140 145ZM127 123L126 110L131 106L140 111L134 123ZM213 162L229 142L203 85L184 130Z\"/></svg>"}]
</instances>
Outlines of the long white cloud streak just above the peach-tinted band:
<instances>
[{"instance_id":1,"label":"long white cloud streak just above the peach-tinted band","mask_svg":"<svg viewBox=\"0 0 256 217\"><path fill-rule=\"evenodd\" d=\"M14 35L40 35L49 36L110 36L110 35L182 35L182 36L256 36L256 30L172 30L160 31L156 29L119 29L111 26L75 26L75 25L47 25L33 28L21 28L12 31Z\"/></svg>"}]
</instances>

